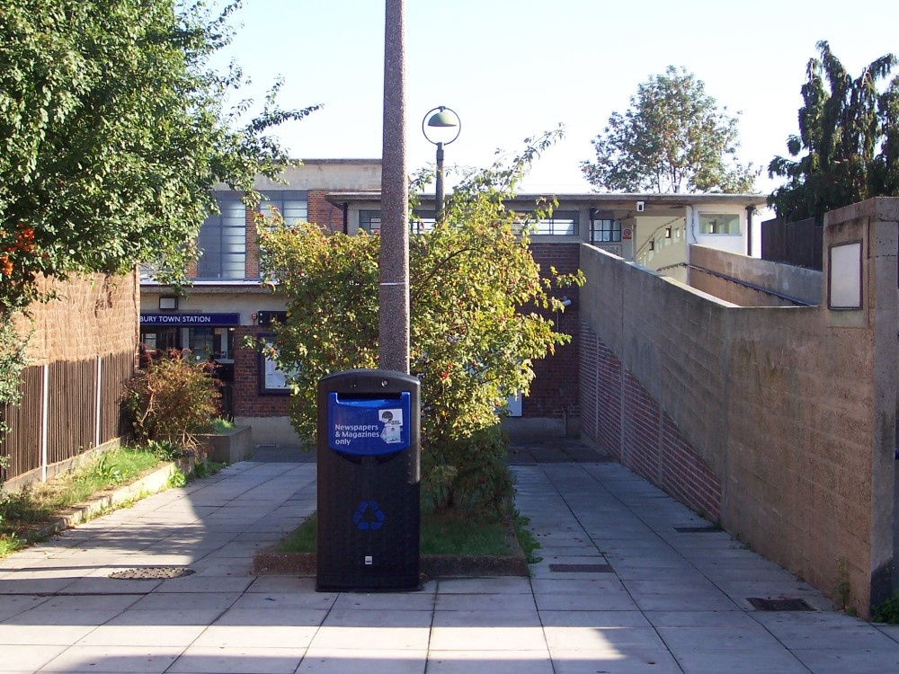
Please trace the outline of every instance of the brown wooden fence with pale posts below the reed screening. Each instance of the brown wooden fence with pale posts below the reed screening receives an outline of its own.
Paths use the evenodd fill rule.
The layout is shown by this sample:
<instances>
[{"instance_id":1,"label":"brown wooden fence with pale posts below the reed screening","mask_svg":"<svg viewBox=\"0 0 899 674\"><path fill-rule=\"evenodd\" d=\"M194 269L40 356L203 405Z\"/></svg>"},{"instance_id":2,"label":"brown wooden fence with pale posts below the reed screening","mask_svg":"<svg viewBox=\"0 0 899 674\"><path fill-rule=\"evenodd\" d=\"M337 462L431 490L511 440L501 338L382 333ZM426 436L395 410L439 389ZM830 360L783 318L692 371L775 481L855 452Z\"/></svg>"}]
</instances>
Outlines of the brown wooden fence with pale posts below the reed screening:
<instances>
[{"instance_id":1,"label":"brown wooden fence with pale posts below the reed screening","mask_svg":"<svg viewBox=\"0 0 899 674\"><path fill-rule=\"evenodd\" d=\"M12 429L0 440L4 481L31 473L45 480L50 466L127 434L121 397L133 372L130 351L25 368L20 404L0 405Z\"/></svg>"}]
</instances>

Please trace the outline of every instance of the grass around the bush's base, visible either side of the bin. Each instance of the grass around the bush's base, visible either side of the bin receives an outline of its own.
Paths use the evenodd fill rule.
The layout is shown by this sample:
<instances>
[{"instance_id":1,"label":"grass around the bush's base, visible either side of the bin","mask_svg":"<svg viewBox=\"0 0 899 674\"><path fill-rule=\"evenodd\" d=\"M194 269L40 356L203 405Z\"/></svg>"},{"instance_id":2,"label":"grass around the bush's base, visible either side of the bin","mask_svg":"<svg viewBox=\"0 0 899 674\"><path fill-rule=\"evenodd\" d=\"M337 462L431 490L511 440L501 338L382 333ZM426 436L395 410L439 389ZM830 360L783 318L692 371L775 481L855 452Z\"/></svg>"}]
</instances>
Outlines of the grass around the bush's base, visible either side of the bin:
<instances>
[{"instance_id":1,"label":"grass around the bush's base, visible either side of the bin","mask_svg":"<svg viewBox=\"0 0 899 674\"><path fill-rule=\"evenodd\" d=\"M318 518L315 514L281 541L278 552L314 553ZM422 554L505 556L512 554L508 528L499 519L477 519L470 514L422 511Z\"/></svg>"}]
</instances>

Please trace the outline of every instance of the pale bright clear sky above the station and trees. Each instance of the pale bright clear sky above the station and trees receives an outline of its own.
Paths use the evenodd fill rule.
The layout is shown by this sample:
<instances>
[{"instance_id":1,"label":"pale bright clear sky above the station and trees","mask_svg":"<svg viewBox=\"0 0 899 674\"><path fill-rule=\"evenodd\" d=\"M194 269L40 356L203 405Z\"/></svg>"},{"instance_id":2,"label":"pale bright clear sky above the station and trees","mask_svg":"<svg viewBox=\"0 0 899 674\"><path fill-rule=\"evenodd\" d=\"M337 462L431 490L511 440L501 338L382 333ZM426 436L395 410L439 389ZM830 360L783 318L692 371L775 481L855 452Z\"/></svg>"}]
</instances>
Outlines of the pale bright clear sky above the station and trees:
<instances>
[{"instance_id":1,"label":"pale bright clear sky above the station and trees","mask_svg":"<svg viewBox=\"0 0 899 674\"><path fill-rule=\"evenodd\" d=\"M498 148L565 124L565 139L536 164L530 191L590 191L578 164L611 112L668 65L741 111L740 158L767 167L797 131L799 89L817 40L850 74L899 53L899 3L756 0L753 3L601 0L406 0L406 113L410 171L434 161L422 136L437 105L462 129L447 164L484 166ZM282 75L281 104L324 109L278 132L298 158L381 153L383 0L245 0L227 56L261 99ZM899 75L899 69L895 72ZM770 191L763 172L758 183Z\"/></svg>"}]
</instances>

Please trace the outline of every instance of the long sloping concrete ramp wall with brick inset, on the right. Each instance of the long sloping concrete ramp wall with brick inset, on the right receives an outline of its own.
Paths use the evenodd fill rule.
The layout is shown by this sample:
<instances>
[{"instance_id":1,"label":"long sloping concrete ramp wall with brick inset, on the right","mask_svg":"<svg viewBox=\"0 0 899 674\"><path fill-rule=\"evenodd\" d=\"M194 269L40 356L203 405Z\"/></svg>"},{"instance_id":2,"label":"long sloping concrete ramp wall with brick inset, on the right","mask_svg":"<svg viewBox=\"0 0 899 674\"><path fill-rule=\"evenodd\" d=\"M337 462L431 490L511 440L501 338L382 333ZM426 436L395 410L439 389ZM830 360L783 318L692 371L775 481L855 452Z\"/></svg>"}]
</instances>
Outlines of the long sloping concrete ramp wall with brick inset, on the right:
<instances>
[{"instance_id":1,"label":"long sloping concrete ramp wall with brick inset, on the right","mask_svg":"<svg viewBox=\"0 0 899 674\"><path fill-rule=\"evenodd\" d=\"M583 436L833 599L848 581L863 616L894 555L897 212L828 215L825 246L869 251L850 312L736 306L581 251Z\"/></svg>"}]
</instances>

